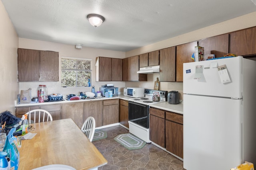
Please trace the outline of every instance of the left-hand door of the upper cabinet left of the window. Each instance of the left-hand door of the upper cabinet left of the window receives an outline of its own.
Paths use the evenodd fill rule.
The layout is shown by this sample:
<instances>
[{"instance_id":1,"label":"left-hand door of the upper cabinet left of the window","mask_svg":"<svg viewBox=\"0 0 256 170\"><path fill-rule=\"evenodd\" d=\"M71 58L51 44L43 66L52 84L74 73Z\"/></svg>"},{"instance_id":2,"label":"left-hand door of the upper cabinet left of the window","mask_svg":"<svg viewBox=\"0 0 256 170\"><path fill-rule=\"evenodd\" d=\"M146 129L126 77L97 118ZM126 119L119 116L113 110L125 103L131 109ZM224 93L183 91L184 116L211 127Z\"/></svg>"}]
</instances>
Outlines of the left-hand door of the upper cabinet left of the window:
<instances>
[{"instance_id":1,"label":"left-hand door of the upper cabinet left of the window","mask_svg":"<svg viewBox=\"0 0 256 170\"><path fill-rule=\"evenodd\" d=\"M39 81L40 51L18 49L19 81Z\"/></svg>"}]
</instances>

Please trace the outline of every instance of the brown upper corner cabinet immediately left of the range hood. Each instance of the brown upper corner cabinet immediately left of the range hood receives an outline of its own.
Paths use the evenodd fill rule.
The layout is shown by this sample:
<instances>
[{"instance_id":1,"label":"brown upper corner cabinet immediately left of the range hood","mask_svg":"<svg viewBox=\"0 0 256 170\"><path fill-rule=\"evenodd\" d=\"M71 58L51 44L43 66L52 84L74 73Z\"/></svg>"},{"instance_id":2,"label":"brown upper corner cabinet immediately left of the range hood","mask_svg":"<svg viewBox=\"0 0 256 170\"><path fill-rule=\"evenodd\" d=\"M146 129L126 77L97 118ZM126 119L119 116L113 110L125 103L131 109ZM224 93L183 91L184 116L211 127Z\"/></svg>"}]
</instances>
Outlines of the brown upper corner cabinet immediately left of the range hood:
<instances>
[{"instance_id":1,"label":"brown upper corner cabinet immediately left of the range hood","mask_svg":"<svg viewBox=\"0 0 256 170\"><path fill-rule=\"evenodd\" d=\"M147 81L147 74L138 74L139 56L123 59L123 81Z\"/></svg>"}]
</instances>

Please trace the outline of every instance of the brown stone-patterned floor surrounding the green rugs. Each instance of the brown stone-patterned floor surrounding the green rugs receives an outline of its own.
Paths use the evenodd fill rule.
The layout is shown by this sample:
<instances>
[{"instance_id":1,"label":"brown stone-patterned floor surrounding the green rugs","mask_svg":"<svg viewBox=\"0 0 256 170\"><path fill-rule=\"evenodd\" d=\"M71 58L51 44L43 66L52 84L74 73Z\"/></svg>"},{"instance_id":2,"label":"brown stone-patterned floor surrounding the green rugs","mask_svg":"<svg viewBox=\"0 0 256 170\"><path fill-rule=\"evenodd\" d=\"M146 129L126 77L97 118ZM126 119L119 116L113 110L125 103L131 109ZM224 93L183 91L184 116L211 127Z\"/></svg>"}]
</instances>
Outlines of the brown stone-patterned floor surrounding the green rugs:
<instances>
[{"instance_id":1,"label":"brown stone-patterned floor surrounding the green rugs","mask_svg":"<svg viewBox=\"0 0 256 170\"><path fill-rule=\"evenodd\" d=\"M124 148L114 140L119 134L129 133L120 125L101 130L106 131L108 137L92 143L108 160L108 164L98 170L185 170L181 160L151 143L142 149Z\"/></svg>"}]
</instances>

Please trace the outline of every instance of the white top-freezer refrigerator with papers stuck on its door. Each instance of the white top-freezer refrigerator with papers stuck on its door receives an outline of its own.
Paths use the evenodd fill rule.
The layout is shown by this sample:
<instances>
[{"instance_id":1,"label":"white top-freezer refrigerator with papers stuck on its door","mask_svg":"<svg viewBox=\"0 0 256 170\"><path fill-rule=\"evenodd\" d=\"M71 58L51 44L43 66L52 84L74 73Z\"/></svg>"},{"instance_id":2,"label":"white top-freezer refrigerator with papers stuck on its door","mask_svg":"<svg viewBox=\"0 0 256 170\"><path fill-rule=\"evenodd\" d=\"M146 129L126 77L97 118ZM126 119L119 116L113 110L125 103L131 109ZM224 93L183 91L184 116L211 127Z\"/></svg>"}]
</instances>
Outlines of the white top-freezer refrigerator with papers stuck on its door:
<instances>
[{"instance_id":1,"label":"white top-freezer refrigerator with papers stuck on its door","mask_svg":"<svg viewBox=\"0 0 256 170\"><path fill-rule=\"evenodd\" d=\"M228 83L216 67L224 64ZM183 69L184 168L256 164L256 61L238 56L184 63Z\"/></svg>"}]
</instances>

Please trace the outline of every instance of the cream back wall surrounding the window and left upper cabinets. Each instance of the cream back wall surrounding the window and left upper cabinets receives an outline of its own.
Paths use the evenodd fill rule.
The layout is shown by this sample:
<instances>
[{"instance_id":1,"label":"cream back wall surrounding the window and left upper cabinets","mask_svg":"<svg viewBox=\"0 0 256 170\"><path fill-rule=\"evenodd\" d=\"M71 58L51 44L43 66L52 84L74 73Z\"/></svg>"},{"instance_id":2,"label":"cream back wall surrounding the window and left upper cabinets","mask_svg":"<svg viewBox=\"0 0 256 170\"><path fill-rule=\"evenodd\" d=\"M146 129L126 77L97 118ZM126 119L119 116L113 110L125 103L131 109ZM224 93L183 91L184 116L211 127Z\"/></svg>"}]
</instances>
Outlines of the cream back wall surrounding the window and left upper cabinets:
<instances>
[{"instance_id":1,"label":"cream back wall surrounding the window and left upper cabinets","mask_svg":"<svg viewBox=\"0 0 256 170\"><path fill-rule=\"evenodd\" d=\"M76 49L75 45L66 45L60 43L52 43L47 41L38 41L33 39L19 38L19 48L24 49L36 49L36 50L48 50L59 52L59 57L74 57L81 59L92 59L92 80L91 85L95 86L96 91L99 90L100 86L104 84L114 84L114 86L119 87L122 91L125 87L125 82L96 82L95 78L95 60L96 57L113 57L123 59L125 58L125 53L120 51L110 51L104 49L95 49L82 47L82 49ZM61 61L60 61L61 62ZM61 66L61 63L59 63ZM60 67L59 66L59 67ZM60 70L61 72L61 70ZM59 77L61 77L59 72ZM48 88L48 94L60 93L64 96L67 94L76 94L80 92L90 92L91 87L75 87L75 88L62 88L61 81L59 82L20 82L19 90L26 90L32 88L32 96L37 96L37 88L40 84L45 84Z\"/></svg>"}]
</instances>

